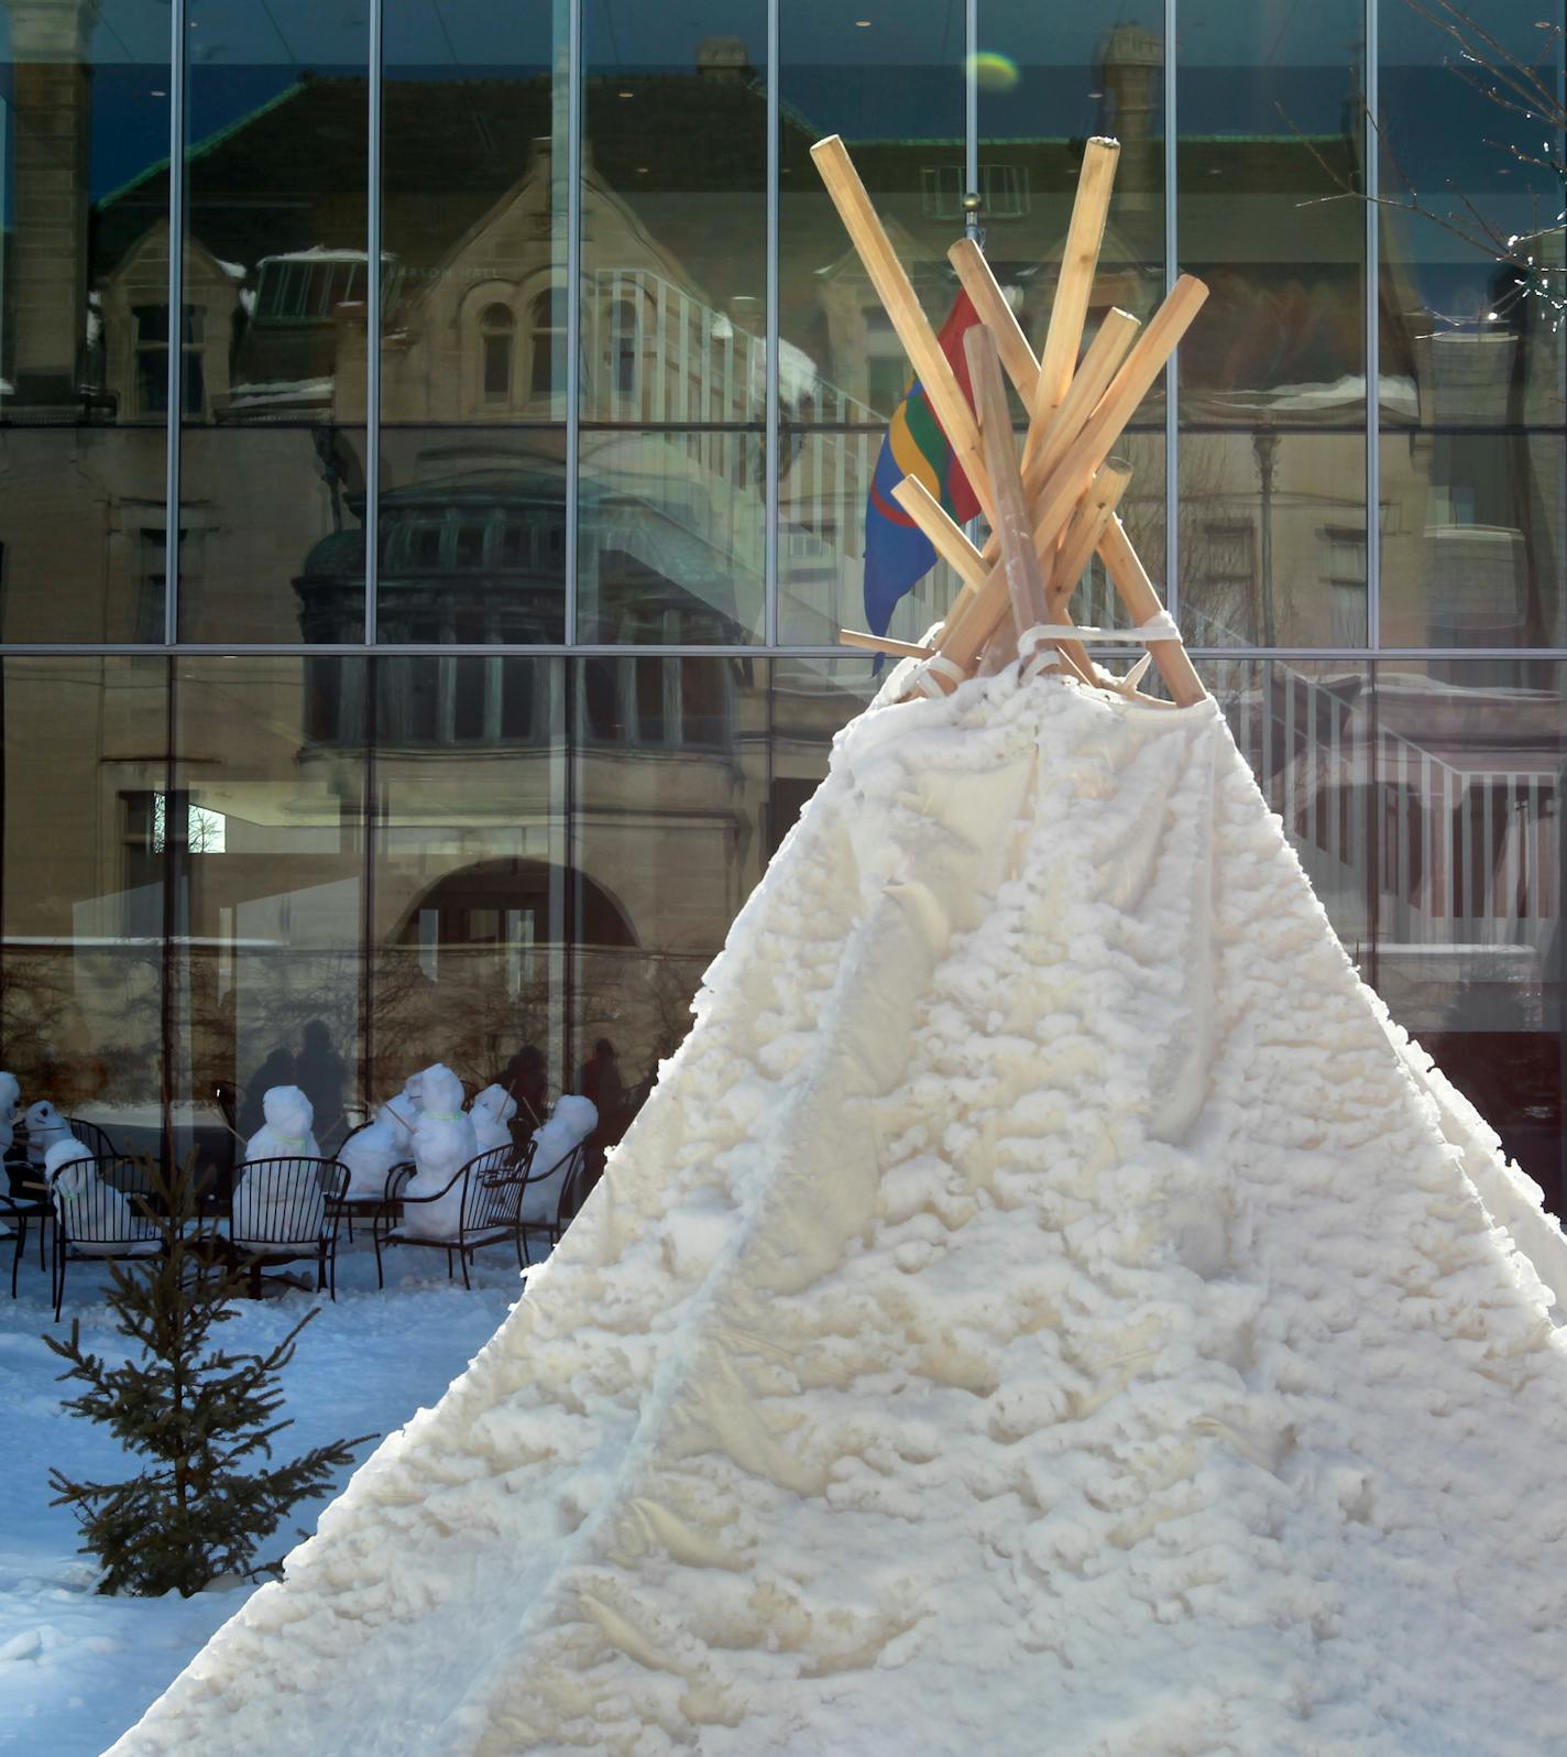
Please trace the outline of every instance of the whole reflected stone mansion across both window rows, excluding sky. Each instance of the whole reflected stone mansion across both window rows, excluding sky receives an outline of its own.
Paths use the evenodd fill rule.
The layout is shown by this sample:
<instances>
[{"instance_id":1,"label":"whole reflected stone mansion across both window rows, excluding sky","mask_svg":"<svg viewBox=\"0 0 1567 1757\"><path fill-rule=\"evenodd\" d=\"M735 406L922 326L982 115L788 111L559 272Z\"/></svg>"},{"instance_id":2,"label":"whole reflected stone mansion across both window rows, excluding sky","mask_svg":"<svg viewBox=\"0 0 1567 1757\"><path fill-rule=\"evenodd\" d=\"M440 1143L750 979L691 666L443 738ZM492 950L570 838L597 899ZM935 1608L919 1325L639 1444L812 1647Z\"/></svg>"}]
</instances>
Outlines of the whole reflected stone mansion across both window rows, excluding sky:
<instances>
[{"instance_id":1,"label":"whole reflected stone mansion across both window rows, excluding sky","mask_svg":"<svg viewBox=\"0 0 1567 1757\"><path fill-rule=\"evenodd\" d=\"M864 675L834 691L796 666L782 689L785 661L740 654L471 648L564 643L571 559L583 645L743 648L768 629L766 104L743 51L710 40L685 72L585 81L574 286L567 153L546 76L386 79L374 272L365 83L279 76L190 153L170 320L167 169L132 176L91 209L84 199L93 9L9 0L7 11L19 65L0 307L0 633L162 641L172 524L183 640L362 641L378 297L376 633L388 648L422 648L376 657L374 678L362 657L181 659L172 738L158 689L132 706L137 692L100 687L90 708L77 680L81 706L61 736L86 803L65 812L72 845L60 850L70 875L60 898L76 914L44 903L35 852L19 852L9 871L32 873L37 919L32 903L7 914L9 972L23 938L33 966L65 970L74 956L95 998L72 1005L97 1009L98 1023L61 1040L111 1037L104 1021L125 1010L119 977L104 973L119 968L116 947L135 942L146 963L167 926L186 928L165 972L186 1000L158 1026L197 1045L191 1068L169 1070L176 1088L197 1061L202 1079L244 1077L276 1016L309 1009L325 1009L343 1042L367 1021L378 1077L399 1033L453 1042L476 1019L506 1019L509 1031L527 1012L562 1077L583 1033L632 1005L625 996L639 1072L678 1026L696 970ZM1101 123L1124 151L1096 309L1145 315L1163 285L1161 53L1131 26L1105 40ZM815 132L785 105L773 624L801 647L859 620L864 490L905 378L817 188ZM961 149L877 139L854 151L940 313ZM987 251L1035 336L1077 153L1061 137L980 142ZM1349 200L1302 206L1332 190L1330 172L1353 177L1354 160L1342 137L1182 142L1181 260L1214 288L1181 365L1181 578L1202 645L1367 638L1363 221ZM1562 640L1560 343L1511 313L1439 325L1397 267L1402 255L1388 251L1395 265L1377 285L1383 640ZM184 418L172 522L170 351ZM580 392L574 452L567 378ZM1138 471L1128 518L1158 560L1159 401L1145 413L1126 443ZM913 594L901 627L929 620L945 592L933 580ZM162 659L146 664L163 673ZM1497 666L1493 680L1513 689L1518 671ZM1295 682L1289 691L1305 691L1328 724L1319 694ZM49 715L42 687L26 699ZM1291 761L1316 763L1316 734L1289 726ZM1407 741L1430 754L1418 727ZM174 775L158 756L170 743ZM1484 787L1444 785L1484 817ZM1527 794L1528 845L1546 835L1553 798ZM190 822L207 822L190 805L223 826L221 847L184 845ZM1491 870L1502 845L1481 845ZM1381 887L1388 863L1367 845L1347 864L1323 870L1335 894L1377 896L1386 919L1412 896ZM1493 887L1484 919L1511 919L1504 891ZM1458 933L1484 944L1469 917L1411 907L1411 944ZM1528 942L1537 980L1553 929L1507 931ZM148 1049L126 1066L146 1079L153 1059Z\"/></svg>"}]
</instances>

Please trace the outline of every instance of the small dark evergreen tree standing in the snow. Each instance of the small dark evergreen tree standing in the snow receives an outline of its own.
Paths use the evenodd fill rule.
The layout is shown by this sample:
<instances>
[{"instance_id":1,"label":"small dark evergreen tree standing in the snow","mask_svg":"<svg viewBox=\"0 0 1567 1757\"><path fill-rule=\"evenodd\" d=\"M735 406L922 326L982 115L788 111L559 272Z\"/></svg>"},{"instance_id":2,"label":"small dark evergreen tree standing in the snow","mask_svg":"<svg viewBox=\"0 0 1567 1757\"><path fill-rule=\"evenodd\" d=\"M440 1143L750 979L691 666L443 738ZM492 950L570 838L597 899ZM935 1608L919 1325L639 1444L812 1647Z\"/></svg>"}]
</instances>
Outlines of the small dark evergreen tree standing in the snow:
<instances>
[{"instance_id":1,"label":"small dark evergreen tree standing in the snow","mask_svg":"<svg viewBox=\"0 0 1567 1757\"><path fill-rule=\"evenodd\" d=\"M139 1353L111 1365L70 1341L46 1335L70 1365L61 1381L88 1386L65 1407L105 1421L149 1467L123 1483L77 1483L51 1469L51 1506L74 1504L83 1550L104 1565L100 1592L200 1592L221 1574L255 1578L255 1553L288 1509L327 1493L332 1471L353 1462L353 1446L374 1435L332 1441L272 1465L272 1441L288 1427L278 1374L293 1358L313 1307L265 1355L235 1355L211 1342L235 1316L242 1276L223 1256L216 1232L197 1219L193 1160L172 1175L148 1167L146 1202L162 1233L156 1258L111 1263L109 1305Z\"/></svg>"}]
</instances>

